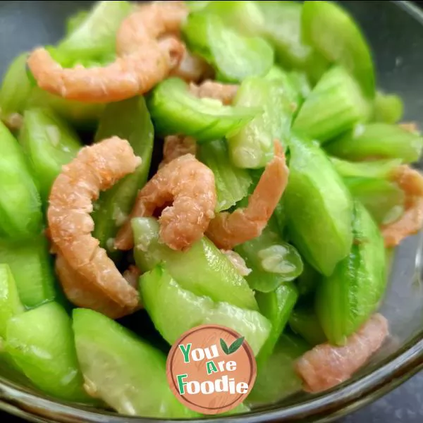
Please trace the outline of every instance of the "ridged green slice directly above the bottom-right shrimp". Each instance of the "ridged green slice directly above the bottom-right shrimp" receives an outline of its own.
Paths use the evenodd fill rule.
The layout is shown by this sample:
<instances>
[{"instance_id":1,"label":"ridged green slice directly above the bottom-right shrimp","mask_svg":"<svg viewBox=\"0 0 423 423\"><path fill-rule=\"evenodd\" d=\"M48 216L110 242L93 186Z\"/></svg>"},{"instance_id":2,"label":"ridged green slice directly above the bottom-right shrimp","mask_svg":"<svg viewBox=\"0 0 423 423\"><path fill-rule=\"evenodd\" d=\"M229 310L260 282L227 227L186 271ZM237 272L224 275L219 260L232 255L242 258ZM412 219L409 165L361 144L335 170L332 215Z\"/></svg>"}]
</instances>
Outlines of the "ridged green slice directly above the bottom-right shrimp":
<instances>
[{"instance_id":1,"label":"ridged green slice directly above the bottom-right shrimp","mask_svg":"<svg viewBox=\"0 0 423 423\"><path fill-rule=\"evenodd\" d=\"M355 202L354 243L333 274L322 278L316 312L331 343L342 345L379 305L386 288L384 240L367 210Z\"/></svg>"}]
</instances>

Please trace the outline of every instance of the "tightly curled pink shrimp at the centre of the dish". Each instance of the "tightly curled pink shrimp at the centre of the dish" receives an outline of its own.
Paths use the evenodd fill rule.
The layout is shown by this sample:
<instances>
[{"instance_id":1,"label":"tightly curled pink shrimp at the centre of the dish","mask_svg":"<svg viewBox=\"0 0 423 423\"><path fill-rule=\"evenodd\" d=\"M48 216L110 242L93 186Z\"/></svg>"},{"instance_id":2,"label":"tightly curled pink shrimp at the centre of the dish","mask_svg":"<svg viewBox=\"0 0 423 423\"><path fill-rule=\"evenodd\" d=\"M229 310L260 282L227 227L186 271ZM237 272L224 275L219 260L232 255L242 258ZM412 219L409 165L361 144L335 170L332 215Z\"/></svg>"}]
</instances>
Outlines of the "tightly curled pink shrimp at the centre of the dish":
<instances>
[{"instance_id":1,"label":"tightly curled pink shrimp at the centre of the dish","mask_svg":"<svg viewBox=\"0 0 423 423\"><path fill-rule=\"evenodd\" d=\"M161 241L173 250L185 250L200 240L214 217L217 195L213 172L192 154L178 157L159 169L138 193L128 221L118 232L115 247L130 250L130 219L152 216L169 203L159 217Z\"/></svg>"}]
</instances>

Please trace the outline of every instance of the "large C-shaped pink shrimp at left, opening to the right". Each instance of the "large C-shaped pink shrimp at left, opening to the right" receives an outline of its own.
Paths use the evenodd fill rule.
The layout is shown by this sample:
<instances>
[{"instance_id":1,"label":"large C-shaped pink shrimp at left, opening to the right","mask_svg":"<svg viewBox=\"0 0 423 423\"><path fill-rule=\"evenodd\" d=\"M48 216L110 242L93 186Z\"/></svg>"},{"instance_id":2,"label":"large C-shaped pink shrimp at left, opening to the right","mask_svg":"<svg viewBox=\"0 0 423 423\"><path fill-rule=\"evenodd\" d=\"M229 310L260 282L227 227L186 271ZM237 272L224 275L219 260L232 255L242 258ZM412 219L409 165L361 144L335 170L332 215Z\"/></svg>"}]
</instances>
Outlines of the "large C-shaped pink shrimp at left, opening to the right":
<instances>
[{"instance_id":1,"label":"large C-shaped pink shrimp at left, opening to the right","mask_svg":"<svg viewBox=\"0 0 423 423\"><path fill-rule=\"evenodd\" d=\"M133 173L141 159L125 140L111 137L80 150L63 166L49 197L49 236L58 253L56 269L69 300L109 316L138 307L138 294L92 237L92 201ZM87 292L85 292L87 290ZM116 310L113 305L117 305Z\"/></svg>"}]
</instances>

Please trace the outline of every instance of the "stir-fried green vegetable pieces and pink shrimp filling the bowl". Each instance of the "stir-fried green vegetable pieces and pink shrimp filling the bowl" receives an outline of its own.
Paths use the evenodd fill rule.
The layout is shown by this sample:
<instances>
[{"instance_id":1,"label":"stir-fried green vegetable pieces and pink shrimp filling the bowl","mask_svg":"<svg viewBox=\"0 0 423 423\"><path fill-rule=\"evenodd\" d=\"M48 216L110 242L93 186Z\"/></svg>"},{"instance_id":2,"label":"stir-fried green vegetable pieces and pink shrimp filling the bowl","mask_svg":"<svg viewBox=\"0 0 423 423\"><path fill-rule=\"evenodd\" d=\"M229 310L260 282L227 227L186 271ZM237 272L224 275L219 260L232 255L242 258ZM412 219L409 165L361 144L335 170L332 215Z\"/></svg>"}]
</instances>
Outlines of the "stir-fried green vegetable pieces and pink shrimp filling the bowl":
<instances>
[{"instance_id":1,"label":"stir-fried green vegetable pieces and pink shrimp filling the bowl","mask_svg":"<svg viewBox=\"0 0 423 423\"><path fill-rule=\"evenodd\" d=\"M386 341L423 140L340 6L100 1L11 63L0 107L0 358L23 384L198 417L166 354L221 324L256 355L245 412Z\"/></svg>"}]
</instances>

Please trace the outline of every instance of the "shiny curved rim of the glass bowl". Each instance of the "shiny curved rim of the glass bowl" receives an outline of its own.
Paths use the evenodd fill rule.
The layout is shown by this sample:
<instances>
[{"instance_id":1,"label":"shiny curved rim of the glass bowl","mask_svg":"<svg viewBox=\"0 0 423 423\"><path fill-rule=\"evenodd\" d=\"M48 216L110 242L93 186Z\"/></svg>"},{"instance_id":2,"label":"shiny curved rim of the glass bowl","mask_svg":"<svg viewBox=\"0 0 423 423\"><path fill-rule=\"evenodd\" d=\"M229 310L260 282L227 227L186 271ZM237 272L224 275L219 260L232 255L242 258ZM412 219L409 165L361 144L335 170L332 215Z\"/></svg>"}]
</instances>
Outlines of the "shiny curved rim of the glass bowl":
<instances>
[{"instance_id":1,"label":"shiny curved rim of the glass bowl","mask_svg":"<svg viewBox=\"0 0 423 423\"><path fill-rule=\"evenodd\" d=\"M423 25L423 11L407 0L391 0L412 18ZM423 233L419 234L417 256L423 252ZM419 262L419 277L423 263ZM403 345L394 355L386 357L377 368L316 396L309 396L293 405L266 405L262 409L234 415L214 417L216 423L231 420L233 423L298 422L313 417L314 422L329 422L338 419L393 390L423 369L423 329ZM49 399L8 381L0 376L0 410L33 422L61 423L145 423L145 422L190 422L202 419L159 419L118 415L115 412L97 411L85 405L71 405L60 400Z\"/></svg>"}]
</instances>

